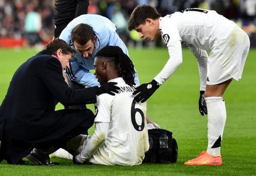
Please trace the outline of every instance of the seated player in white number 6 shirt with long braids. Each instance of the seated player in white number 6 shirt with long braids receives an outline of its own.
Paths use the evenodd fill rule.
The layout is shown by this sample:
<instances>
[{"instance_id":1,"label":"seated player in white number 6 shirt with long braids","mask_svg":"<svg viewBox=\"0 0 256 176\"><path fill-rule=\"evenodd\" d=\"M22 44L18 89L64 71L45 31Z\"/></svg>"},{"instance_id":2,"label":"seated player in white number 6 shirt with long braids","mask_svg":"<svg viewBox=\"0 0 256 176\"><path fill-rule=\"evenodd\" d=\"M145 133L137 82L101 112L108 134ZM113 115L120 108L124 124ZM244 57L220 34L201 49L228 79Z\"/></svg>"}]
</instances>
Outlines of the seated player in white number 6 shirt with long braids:
<instances>
[{"instance_id":1,"label":"seated player in white number 6 shirt with long braids","mask_svg":"<svg viewBox=\"0 0 256 176\"><path fill-rule=\"evenodd\" d=\"M80 154L77 164L138 165L149 149L146 103L138 103L132 93L134 65L118 46L106 46L94 61L99 83L117 82L120 91L115 96L102 94L95 104L95 132Z\"/></svg>"}]
</instances>

